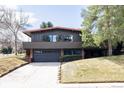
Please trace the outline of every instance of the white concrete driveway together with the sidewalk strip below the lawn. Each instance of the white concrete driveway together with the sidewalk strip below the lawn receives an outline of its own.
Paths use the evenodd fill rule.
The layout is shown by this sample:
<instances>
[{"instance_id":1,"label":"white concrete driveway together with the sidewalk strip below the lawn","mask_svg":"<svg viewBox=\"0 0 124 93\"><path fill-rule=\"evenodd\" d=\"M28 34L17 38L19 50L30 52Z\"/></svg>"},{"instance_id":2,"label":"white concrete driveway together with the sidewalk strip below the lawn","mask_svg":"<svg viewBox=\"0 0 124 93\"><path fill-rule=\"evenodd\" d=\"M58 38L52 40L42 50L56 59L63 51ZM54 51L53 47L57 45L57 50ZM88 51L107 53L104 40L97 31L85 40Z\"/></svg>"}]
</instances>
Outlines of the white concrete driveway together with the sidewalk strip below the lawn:
<instances>
[{"instance_id":1,"label":"white concrete driveway together with the sidewalk strip below the lawn","mask_svg":"<svg viewBox=\"0 0 124 93\"><path fill-rule=\"evenodd\" d=\"M58 63L30 63L0 78L0 88L124 88L124 83L59 84Z\"/></svg>"}]
</instances>

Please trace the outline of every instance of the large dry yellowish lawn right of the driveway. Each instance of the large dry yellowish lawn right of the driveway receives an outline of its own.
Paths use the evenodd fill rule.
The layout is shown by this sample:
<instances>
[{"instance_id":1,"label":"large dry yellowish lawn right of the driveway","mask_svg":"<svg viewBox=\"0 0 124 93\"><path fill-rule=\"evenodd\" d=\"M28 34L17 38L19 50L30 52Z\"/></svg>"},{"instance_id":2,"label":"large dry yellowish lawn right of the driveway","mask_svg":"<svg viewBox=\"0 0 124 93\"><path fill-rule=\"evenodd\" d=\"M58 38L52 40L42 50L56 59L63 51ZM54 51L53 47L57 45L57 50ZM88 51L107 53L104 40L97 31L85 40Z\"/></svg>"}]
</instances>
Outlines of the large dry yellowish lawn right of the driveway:
<instances>
[{"instance_id":1,"label":"large dry yellowish lawn right of the driveway","mask_svg":"<svg viewBox=\"0 0 124 93\"><path fill-rule=\"evenodd\" d=\"M124 81L124 55L82 59L63 63L62 83Z\"/></svg>"}]
</instances>

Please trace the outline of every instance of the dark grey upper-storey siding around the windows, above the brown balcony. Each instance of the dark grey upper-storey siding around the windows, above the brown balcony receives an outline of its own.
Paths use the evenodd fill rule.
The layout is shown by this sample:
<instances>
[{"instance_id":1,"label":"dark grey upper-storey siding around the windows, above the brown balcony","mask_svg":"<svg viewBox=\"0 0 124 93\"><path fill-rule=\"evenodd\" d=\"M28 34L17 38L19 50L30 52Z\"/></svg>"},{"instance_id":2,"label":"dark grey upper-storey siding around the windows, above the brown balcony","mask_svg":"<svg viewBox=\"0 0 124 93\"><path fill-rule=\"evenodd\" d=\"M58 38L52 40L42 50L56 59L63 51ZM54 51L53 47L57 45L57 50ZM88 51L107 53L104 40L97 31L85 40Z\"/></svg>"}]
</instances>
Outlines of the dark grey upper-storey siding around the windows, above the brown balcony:
<instances>
[{"instance_id":1,"label":"dark grey upper-storey siding around the windows, above the brown balcony","mask_svg":"<svg viewBox=\"0 0 124 93\"><path fill-rule=\"evenodd\" d=\"M81 41L81 37L79 36L80 32L76 31L66 31L66 30L53 30L53 31L44 31L44 32L35 32L32 33L31 38L32 42L40 42L43 41L44 35L73 35L73 41L79 42Z\"/></svg>"}]
</instances>

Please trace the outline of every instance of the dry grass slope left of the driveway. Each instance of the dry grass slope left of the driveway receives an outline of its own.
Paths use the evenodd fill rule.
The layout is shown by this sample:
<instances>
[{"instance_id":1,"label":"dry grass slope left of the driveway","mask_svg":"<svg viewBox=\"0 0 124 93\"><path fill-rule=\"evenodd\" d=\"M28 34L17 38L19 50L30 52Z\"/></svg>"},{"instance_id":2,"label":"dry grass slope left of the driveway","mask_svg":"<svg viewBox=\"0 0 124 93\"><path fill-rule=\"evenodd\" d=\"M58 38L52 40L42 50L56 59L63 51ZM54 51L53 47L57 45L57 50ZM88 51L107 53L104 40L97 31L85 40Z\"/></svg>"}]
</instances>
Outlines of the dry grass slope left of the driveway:
<instances>
[{"instance_id":1,"label":"dry grass slope left of the driveway","mask_svg":"<svg viewBox=\"0 0 124 93\"><path fill-rule=\"evenodd\" d=\"M22 55L0 58L0 77L25 64Z\"/></svg>"}]
</instances>

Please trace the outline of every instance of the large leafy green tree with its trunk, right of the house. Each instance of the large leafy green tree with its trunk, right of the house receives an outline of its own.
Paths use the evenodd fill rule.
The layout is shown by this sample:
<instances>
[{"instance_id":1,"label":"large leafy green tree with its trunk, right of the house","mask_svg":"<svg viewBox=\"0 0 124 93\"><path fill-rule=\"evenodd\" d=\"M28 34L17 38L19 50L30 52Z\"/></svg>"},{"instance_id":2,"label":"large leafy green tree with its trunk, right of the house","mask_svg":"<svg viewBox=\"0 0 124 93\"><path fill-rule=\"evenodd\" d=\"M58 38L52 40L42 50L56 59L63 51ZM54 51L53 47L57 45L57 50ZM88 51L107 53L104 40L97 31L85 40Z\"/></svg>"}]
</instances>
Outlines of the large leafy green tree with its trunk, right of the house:
<instances>
[{"instance_id":1,"label":"large leafy green tree with its trunk, right of the house","mask_svg":"<svg viewBox=\"0 0 124 93\"><path fill-rule=\"evenodd\" d=\"M89 6L83 11L84 27L91 32L96 32L101 42L107 40L108 55L112 55L112 46L122 41L124 27L124 6Z\"/></svg>"}]
</instances>

